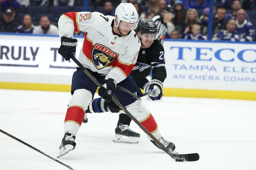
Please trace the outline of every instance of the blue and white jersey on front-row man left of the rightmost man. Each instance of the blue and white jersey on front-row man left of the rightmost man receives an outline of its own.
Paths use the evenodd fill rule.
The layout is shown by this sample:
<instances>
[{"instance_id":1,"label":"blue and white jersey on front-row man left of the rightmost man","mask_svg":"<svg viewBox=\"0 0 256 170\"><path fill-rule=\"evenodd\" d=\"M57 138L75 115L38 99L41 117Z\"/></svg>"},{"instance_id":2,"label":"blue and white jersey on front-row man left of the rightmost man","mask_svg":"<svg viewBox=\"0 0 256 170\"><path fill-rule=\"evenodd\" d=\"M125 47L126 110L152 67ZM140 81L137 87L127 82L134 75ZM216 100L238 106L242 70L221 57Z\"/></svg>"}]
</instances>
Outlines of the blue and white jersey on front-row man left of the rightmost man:
<instances>
[{"instance_id":1,"label":"blue and white jersey on front-row man left of the rightmost man","mask_svg":"<svg viewBox=\"0 0 256 170\"><path fill-rule=\"evenodd\" d=\"M227 33L226 30L220 30L214 34L212 41L223 40L223 41L239 41L240 35L237 31L233 33Z\"/></svg>"}]
</instances>

